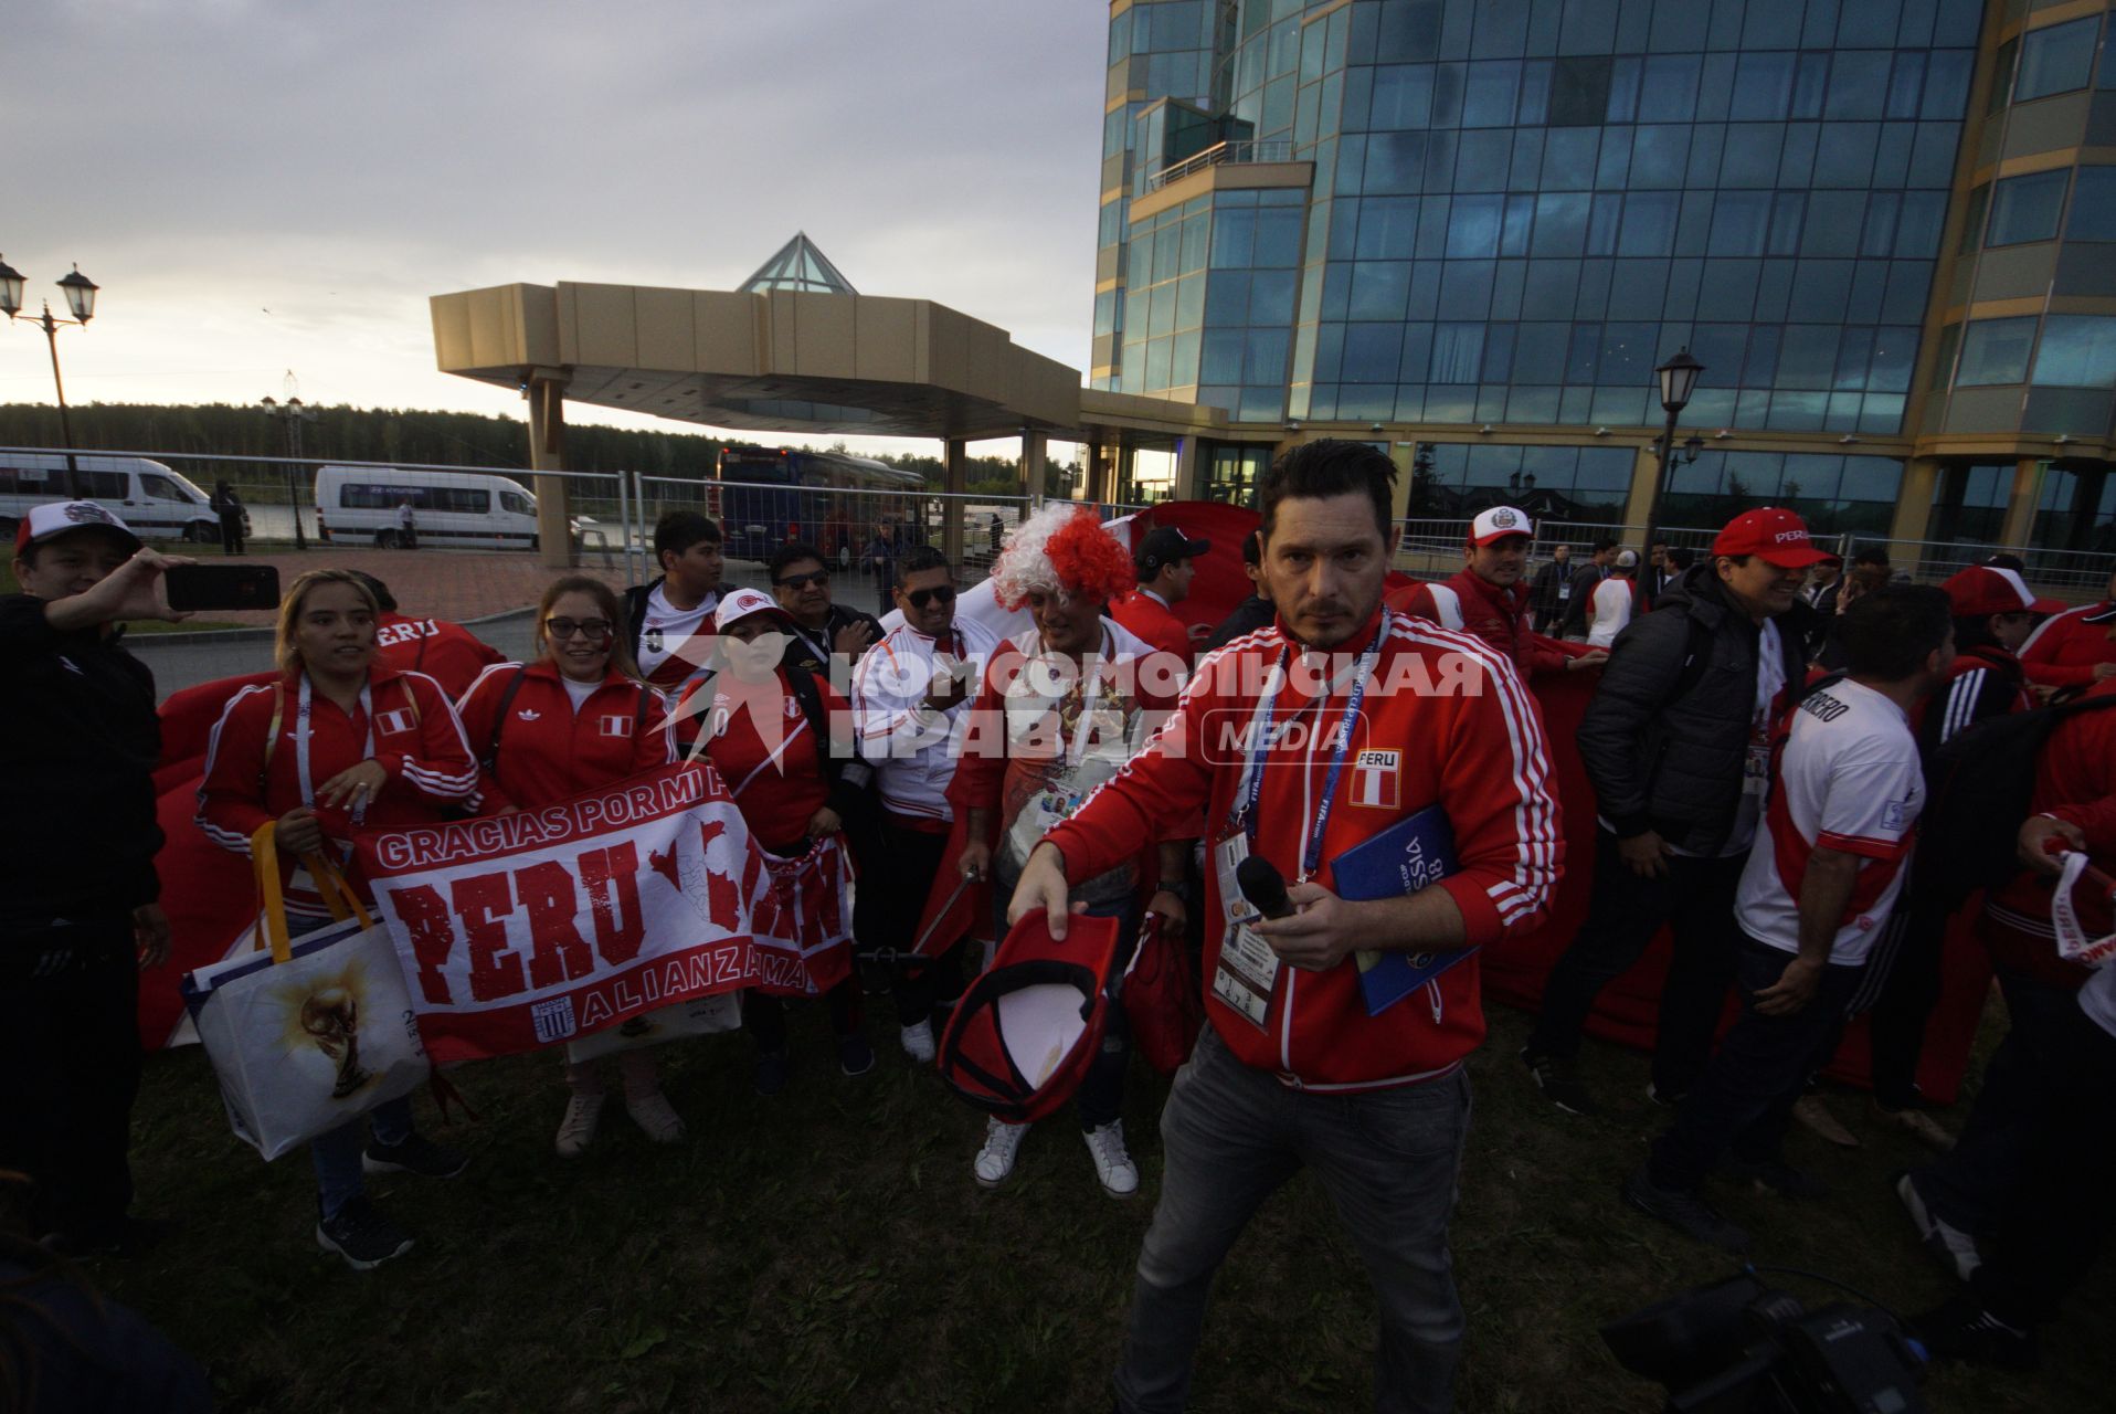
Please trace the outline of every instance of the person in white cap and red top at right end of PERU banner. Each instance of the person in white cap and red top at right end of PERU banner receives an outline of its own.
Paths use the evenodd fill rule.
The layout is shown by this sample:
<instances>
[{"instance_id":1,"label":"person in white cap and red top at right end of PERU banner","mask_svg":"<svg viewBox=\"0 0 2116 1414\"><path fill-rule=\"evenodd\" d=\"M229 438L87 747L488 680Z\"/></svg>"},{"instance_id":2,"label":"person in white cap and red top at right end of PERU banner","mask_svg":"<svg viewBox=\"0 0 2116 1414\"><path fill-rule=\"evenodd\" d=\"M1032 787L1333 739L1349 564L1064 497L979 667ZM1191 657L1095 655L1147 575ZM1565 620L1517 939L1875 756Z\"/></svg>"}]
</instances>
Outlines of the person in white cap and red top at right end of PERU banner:
<instances>
[{"instance_id":1,"label":"person in white cap and red top at right end of PERU banner","mask_svg":"<svg viewBox=\"0 0 2116 1414\"><path fill-rule=\"evenodd\" d=\"M844 849L840 828L853 790L842 775L844 756L813 726L823 722L825 732L842 735L849 745L851 709L829 682L781 663L791 622L753 588L724 597L713 614L724 671L688 682L673 713L677 741L694 743L690 751L713 762L758 845L781 859L798 859L834 836ZM874 1069L874 1048L859 1031L859 989L849 959L842 961L844 976L825 991L838 1067L865 1075ZM758 1094L785 1088L791 1065L779 997L772 986L743 993L743 1025L758 1041Z\"/></svg>"}]
</instances>

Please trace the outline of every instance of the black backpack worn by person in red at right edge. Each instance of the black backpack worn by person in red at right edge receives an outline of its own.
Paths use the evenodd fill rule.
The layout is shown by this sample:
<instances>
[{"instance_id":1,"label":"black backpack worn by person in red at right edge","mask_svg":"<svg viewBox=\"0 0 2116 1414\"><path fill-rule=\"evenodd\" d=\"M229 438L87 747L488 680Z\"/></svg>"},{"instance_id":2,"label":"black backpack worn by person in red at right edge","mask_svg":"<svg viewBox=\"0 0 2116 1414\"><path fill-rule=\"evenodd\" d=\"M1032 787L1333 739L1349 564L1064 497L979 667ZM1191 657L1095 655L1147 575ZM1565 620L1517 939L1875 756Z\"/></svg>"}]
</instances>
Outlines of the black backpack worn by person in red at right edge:
<instances>
[{"instance_id":1,"label":"black backpack worn by person in red at right edge","mask_svg":"<svg viewBox=\"0 0 2116 1414\"><path fill-rule=\"evenodd\" d=\"M2116 707L2116 696L2010 711L1942 743L1926 762L1932 794L1917 830L1913 889L1953 912L1978 889L2008 883L2021 870L2014 836L2036 794L2042 743L2067 718L2101 707Z\"/></svg>"}]
</instances>

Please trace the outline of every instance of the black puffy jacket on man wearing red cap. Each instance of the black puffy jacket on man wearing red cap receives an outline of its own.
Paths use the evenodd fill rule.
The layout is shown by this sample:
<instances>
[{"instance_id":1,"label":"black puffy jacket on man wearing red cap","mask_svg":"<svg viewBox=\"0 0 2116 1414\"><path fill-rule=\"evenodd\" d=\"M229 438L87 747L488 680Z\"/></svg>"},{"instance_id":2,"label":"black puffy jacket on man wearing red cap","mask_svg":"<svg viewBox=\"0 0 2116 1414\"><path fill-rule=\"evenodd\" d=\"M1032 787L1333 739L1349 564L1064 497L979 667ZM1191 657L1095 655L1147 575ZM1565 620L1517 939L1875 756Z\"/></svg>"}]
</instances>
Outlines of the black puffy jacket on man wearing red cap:
<instances>
[{"instance_id":1,"label":"black puffy jacket on man wearing red cap","mask_svg":"<svg viewBox=\"0 0 2116 1414\"><path fill-rule=\"evenodd\" d=\"M1807 677L1813 610L1777 618L1786 684ZM1619 836L1655 830L1691 853L1718 853L1741 802L1741 764L1756 711L1761 631L1720 588L1712 565L1691 565L1617 635L1579 747Z\"/></svg>"}]
</instances>

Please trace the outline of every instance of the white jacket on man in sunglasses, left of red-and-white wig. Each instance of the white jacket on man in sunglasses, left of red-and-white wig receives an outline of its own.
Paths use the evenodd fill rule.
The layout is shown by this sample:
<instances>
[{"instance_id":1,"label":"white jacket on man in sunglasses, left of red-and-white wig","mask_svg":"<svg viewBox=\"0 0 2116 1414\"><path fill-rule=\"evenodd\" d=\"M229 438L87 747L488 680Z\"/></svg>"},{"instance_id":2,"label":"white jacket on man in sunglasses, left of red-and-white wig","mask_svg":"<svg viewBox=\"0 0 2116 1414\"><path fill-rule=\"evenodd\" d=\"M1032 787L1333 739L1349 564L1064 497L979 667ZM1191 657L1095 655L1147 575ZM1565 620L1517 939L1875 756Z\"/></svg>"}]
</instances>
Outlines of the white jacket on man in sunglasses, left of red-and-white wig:
<instances>
[{"instance_id":1,"label":"white jacket on man in sunglasses, left of red-and-white wig","mask_svg":"<svg viewBox=\"0 0 2116 1414\"><path fill-rule=\"evenodd\" d=\"M988 629L956 620L935 641L910 624L897 624L853 667L853 722L859 754L874 764L882 806L916 819L952 821L948 783L961 739L969 728L969 703L984 684L984 660L999 646ZM925 696L946 665L961 669L963 699L935 711Z\"/></svg>"}]
</instances>

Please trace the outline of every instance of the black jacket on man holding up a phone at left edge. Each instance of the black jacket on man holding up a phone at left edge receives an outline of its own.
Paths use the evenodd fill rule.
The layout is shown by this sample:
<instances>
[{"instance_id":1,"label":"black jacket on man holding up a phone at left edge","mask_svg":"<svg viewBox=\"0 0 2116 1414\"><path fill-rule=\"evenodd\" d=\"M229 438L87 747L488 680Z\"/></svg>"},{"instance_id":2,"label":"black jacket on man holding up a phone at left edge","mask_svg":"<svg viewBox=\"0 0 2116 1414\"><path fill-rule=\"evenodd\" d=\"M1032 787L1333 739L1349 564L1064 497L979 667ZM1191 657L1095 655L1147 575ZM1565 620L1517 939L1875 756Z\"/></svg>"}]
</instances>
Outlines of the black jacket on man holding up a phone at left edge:
<instances>
[{"instance_id":1,"label":"black jacket on man holding up a phone at left edge","mask_svg":"<svg viewBox=\"0 0 2116 1414\"><path fill-rule=\"evenodd\" d=\"M0 919L152 904L154 675L99 629L59 633L32 595L0 597Z\"/></svg>"}]
</instances>

